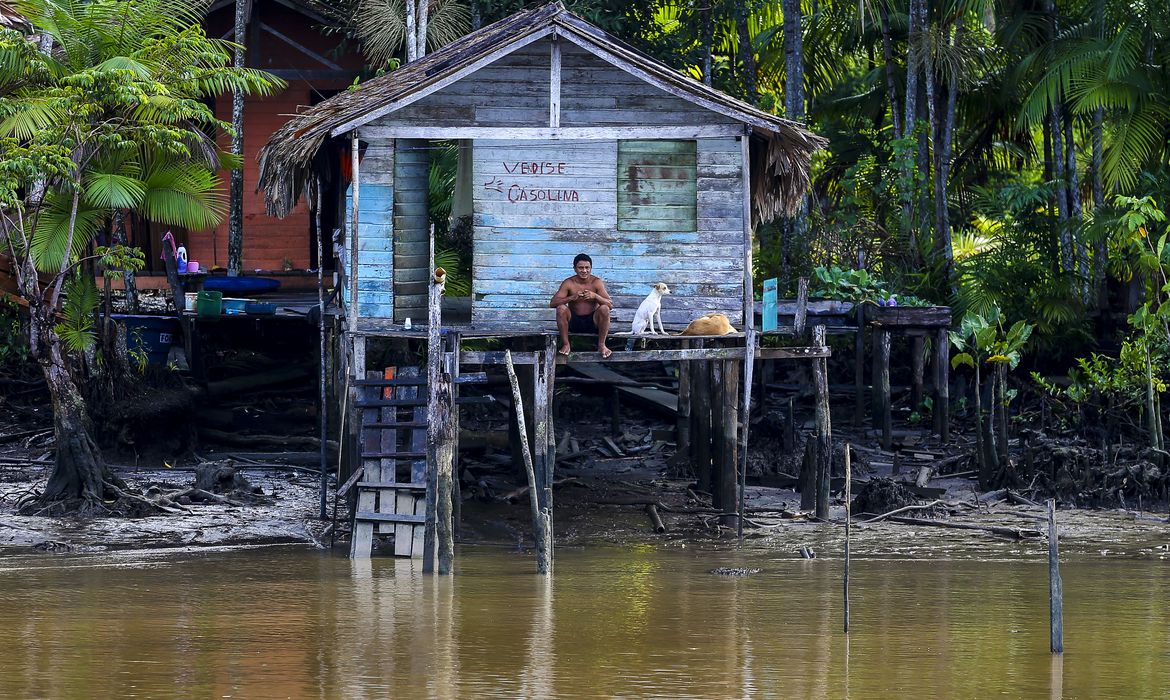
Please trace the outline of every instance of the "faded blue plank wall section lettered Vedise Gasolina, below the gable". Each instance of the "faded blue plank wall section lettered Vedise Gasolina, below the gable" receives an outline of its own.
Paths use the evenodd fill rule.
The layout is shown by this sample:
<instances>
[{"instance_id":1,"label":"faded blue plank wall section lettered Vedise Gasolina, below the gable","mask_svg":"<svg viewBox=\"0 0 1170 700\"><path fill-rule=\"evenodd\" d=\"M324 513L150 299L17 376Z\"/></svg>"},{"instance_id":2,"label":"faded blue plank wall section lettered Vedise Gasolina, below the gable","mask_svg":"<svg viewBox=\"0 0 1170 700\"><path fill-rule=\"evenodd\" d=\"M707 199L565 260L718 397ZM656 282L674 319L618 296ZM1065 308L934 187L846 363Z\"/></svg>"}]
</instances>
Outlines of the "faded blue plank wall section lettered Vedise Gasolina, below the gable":
<instances>
[{"instance_id":1,"label":"faded blue plank wall section lettered Vedise Gasolina, below the gable","mask_svg":"<svg viewBox=\"0 0 1170 700\"><path fill-rule=\"evenodd\" d=\"M587 253L619 323L633 320L655 282L672 290L666 323L710 311L742 323L739 142L696 146L697 231L618 231L617 142L476 140L473 320L553 321L549 300L573 258ZM551 170L529 166L537 172L526 174L523 162Z\"/></svg>"}]
</instances>

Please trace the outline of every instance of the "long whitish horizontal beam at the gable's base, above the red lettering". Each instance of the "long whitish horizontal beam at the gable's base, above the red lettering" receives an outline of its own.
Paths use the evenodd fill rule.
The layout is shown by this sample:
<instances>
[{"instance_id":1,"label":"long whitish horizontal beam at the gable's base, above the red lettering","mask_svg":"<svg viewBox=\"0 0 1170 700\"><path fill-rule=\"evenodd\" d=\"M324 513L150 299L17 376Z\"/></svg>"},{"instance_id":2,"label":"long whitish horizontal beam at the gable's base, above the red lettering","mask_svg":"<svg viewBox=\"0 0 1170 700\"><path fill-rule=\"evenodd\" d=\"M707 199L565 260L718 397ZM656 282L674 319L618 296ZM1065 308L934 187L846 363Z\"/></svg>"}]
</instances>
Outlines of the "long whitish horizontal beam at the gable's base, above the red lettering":
<instances>
[{"instance_id":1,"label":"long whitish horizontal beam at the gable's base, above the red lettering","mask_svg":"<svg viewBox=\"0 0 1170 700\"><path fill-rule=\"evenodd\" d=\"M495 140L695 139L739 136L737 124L674 126L362 126L362 138L490 138Z\"/></svg>"}]
</instances>

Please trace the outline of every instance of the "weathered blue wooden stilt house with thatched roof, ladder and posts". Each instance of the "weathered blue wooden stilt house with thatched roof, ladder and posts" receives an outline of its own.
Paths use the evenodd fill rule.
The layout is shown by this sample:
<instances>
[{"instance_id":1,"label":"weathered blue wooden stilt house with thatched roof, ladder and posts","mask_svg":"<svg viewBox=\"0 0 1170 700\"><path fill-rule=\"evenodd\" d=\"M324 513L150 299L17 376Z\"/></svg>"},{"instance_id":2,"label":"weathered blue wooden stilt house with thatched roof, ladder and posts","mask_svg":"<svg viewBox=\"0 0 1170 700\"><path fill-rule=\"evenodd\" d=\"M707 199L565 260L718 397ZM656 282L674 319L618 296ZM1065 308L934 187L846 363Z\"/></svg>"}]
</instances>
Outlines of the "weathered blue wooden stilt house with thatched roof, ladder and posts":
<instances>
[{"instance_id":1,"label":"weathered blue wooden stilt house with thatched roof, ladder and posts","mask_svg":"<svg viewBox=\"0 0 1170 700\"><path fill-rule=\"evenodd\" d=\"M318 211L329 206L318 180L321 153L337 139L350 143L352 156L342 235L349 275L343 358L359 396L349 406L359 409L362 424L371 430L408 425L427 431L426 462L411 462L410 478L393 462L424 454L422 442L410 437L401 441L413 447L400 448L398 438L383 434L379 440L363 431L364 481L349 482L365 488L355 524L355 542L364 538L364 544L355 544L355 555L369 553L372 527L391 528L395 549L408 553L411 541L424 540L410 529L425 522L425 567L436 537L439 570L449 571L450 460L457 435L450 428L457 421L453 387L467 378L459 375L460 366L505 362L503 352L463 351L461 338L529 336L543 339L543 350L517 352L508 362L535 368L532 493L539 499L538 560L548 570L555 365L603 359L598 352L555 354L549 300L583 252L613 295L614 331L628 330L625 324L655 282L673 291L662 304L668 328L720 311L742 329L720 346L704 348L700 341L691 348L615 352L611 358L679 361L684 370L691 364L684 361L721 364L722 404L713 411L709 392L698 393L708 400L708 419L722 421L718 428L703 428L703 434L720 435L725 447L720 451L718 497L727 509L736 507L742 493L736 464L742 476L746 446L745 421L738 425L736 416L737 406L750 404L752 359L817 358L823 370L827 356L823 336L810 348L763 349L752 325L752 225L799 206L820 138L673 70L553 2L484 27L294 117L261 153L260 186L270 214L287 214L302 197L316 201ZM428 153L438 140L459 144L453 214L468 218L474 231L470 308L462 317L449 308L440 316L431 270ZM413 320L413 329L404 328L406 318ZM419 328L424 324L425 330ZM380 368L367 373L367 337L428 341L427 399L418 399L426 411L408 423L395 424L372 409L406 405L411 399L379 392L414 391L420 382L383 378ZM737 383L741 368L743 382ZM827 400L827 384L824 389ZM519 396L519 389L514 391ZM682 404L680 398L680 410ZM818 416L827 460L827 403ZM737 445L743 447L738 453ZM827 467L824 474L827 485ZM411 489L418 495L404 499ZM827 503L827 486L824 495Z\"/></svg>"}]
</instances>

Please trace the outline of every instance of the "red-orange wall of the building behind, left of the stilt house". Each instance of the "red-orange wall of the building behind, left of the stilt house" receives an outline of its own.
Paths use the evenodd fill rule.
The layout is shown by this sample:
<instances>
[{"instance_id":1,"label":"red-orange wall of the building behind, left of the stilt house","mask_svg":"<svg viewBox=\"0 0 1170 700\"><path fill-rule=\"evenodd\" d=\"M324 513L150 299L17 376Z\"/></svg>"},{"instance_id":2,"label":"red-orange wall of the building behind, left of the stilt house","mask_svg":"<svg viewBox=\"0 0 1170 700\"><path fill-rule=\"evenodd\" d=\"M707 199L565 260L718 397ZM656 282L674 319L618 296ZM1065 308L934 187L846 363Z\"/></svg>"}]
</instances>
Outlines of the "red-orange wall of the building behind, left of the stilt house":
<instances>
[{"instance_id":1,"label":"red-orange wall of the building behind, left of the stilt house","mask_svg":"<svg viewBox=\"0 0 1170 700\"><path fill-rule=\"evenodd\" d=\"M326 60L346 70L358 70L360 57L353 53L336 55L336 36L321 33L321 20L307 16L285 5L273 0L261 0L256 5L256 15L249 29L247 64L267 70L325 71L331 68L319 60L305 54L287 41L268 30L283 34L294 42L324 56ZM213 12L205 26L209 36L223 36L232 30L235 8L232 5ZM230 35L227 36L230 39ZM288 80L288 88L270 97L248 97L245 101L245 163L243 163L243 269L278 270L285 259L295 269L305 269L310 263L310 220L309 207L302 200L284 219L269 217L264 212L264 201L256 192L259 181L260 149L268 143L274 131L280 129L291 115L321 102L324 96L344 90L352 80L318 78ZM324 94L324 95L322 95ZM232 96L225 95L215 104L219 118L232 121ZM220 138L221 146L227 150L230 140L226 135ZM223 180L225 201L227 200L229 174L220 173ZM227 229L225 220L215 231L188 232L185 235L187 255L208 268L213 265L227 266ZM328 240L326 240L328 242ZM326 246L326 255L329 247Z\"/></svg>"}]
</instances>

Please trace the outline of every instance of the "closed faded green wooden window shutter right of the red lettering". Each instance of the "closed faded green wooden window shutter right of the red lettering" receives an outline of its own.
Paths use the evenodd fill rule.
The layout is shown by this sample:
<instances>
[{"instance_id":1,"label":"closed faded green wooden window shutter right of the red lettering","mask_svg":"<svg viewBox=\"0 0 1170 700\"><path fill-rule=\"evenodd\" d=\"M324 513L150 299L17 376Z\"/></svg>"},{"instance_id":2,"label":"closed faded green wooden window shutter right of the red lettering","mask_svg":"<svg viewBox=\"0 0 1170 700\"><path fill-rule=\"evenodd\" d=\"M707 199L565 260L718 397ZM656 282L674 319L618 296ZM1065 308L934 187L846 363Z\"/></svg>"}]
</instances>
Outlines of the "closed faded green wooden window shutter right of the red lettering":
<instances>
[{"instance_id":1,"label":"closed faded green wooden window shutter right of the red lettering","mask_svg":"<svg viewBox=\"0 0 1170 700\"><path fill-rule=\"evenodd\" d=\"M694 140L618 142L618 231L695 231Z\"/></svg>"}]
</instances>

